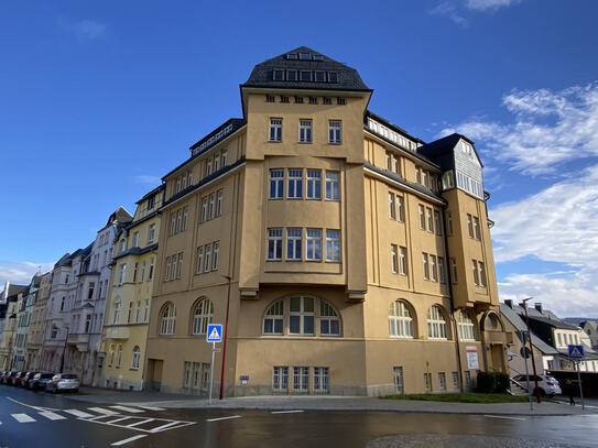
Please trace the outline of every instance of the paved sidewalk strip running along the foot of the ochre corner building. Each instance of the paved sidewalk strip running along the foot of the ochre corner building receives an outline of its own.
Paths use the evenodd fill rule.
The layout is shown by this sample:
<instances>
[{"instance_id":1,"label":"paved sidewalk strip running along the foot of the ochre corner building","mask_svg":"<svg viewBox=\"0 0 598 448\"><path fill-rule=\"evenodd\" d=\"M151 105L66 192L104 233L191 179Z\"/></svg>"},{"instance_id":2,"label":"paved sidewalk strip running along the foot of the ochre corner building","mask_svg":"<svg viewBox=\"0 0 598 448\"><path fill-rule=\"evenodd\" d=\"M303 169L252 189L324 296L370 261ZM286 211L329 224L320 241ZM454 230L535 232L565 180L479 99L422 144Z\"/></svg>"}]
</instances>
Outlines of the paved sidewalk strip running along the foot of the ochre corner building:
<instances>
[{"instance_id":1,"label":"paved sidewalk strip running along the foot of the ochre corner building","mask_svg":"<svg viewBox=\"0 0 598 448\"><path fill-rule=\"evenodd\" d=\"M162 392L130 392L105 389L81 387L78 395L65 395L69 400L90 403L127 403L130 405L160 406L166 408L216 408L216 409L263 409L263 411L379 411L402 413L434 413L434 414L481 414L481 415L525 415L525 416L563 416L563 415L591 415L598 414L598 406L586 405L581 409L578 403L569 406L565 402L533 403L445 403L411 400L381 400L378 397L347 397L347 396L251 396L213 400L211 405L207 398L196 395L166 394ZM595 402L595 401L592 401Z\"/></svg>"}]
</instances>

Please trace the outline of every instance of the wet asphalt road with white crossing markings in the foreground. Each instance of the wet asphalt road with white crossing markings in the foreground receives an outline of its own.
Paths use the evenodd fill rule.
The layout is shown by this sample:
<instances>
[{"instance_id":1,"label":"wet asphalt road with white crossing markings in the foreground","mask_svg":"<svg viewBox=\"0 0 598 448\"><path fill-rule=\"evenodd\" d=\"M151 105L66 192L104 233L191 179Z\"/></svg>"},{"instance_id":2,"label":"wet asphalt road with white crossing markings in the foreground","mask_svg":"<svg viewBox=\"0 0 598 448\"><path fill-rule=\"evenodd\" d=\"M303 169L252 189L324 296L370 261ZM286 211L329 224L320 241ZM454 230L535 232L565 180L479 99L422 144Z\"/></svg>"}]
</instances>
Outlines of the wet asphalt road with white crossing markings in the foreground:
<instances>
[{"instance_id":1,"label":"wet asphalt road with white crossing markings in the foreground","mask_svg":"<svg viewBox=\"0 0 598 448\"><path fill-rule=\"evenodd\" d=\"M598 415L142 408L4 385L0 422L0 448L598 447Z\"/></svg>"}]
</instances>

